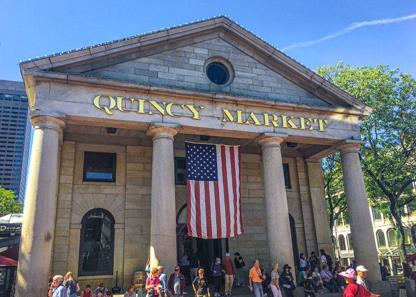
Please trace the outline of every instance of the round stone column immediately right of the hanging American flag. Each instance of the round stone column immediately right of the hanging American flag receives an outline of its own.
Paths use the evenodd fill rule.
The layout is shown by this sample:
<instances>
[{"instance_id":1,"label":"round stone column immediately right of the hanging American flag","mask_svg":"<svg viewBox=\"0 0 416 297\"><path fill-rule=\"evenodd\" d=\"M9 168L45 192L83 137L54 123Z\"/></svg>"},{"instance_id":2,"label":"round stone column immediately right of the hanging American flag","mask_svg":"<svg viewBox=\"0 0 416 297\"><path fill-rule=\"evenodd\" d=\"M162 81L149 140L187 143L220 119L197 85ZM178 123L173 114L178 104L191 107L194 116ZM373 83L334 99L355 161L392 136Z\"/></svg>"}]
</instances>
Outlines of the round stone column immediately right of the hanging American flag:
<instances>
[{"instance_id":1,"label":"round stone column immediately right of the hanging American flag","mask_svg":"<svg viewBox=\"0 0 416 297\"><path fill-rule=\"evenodd\" d=\"M262 154L270 263L278 262L280 268L288 263L294 269L289 210L280 151L280 144L287 137L287 134L263 133L257 142L261 146Z\"/></svg>"}]
</instances>

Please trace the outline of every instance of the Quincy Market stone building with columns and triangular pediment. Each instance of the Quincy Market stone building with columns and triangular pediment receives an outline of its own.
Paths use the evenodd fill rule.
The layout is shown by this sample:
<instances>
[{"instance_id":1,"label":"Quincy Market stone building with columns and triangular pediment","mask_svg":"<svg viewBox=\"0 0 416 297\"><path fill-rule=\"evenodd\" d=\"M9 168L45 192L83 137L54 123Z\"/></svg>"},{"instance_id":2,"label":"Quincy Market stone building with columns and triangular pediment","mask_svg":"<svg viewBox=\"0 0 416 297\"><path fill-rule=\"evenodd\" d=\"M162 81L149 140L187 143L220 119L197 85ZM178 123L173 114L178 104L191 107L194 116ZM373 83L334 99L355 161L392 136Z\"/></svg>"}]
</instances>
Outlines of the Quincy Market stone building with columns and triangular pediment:
<instances>
[{"instance_id":1,"label":"Quincy Market stone building with columns and triangular pediment","mask_svg":"<svg viewBox=\"0 0 416 297\"><path fill-rule=\"evenodd\" d=\"M20 67L35 132L18 296L67 271L125 289L149 254L170 274L190 247L247 270L330 252L320 159L337 150L356 261L389 295L357 150L371 108L244 27L218 16ZM185 141L241 146L243 234L188 237Z\"/></svg>"}]
</instances>

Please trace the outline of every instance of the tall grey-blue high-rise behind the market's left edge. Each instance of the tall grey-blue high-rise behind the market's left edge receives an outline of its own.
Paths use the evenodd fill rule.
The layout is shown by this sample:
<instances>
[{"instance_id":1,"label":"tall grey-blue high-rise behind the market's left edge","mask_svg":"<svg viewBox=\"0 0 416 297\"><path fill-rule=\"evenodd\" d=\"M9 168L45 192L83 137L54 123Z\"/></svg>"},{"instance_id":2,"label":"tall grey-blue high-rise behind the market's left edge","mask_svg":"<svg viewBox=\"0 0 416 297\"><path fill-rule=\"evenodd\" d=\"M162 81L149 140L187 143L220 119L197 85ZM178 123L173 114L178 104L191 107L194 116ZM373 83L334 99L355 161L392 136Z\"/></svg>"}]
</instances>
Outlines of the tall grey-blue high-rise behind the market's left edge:
<instances>
[{"instance_id":1,"label":"tall grey-blue high-rise behind the market's left edge","mask_svg":"<svg viewBox=\"0 0 416 297\"><path fill-rule=\"evenodd\" d=\"M25 198L31 124L22 82L0 80L0 184Z\"/></svg>"}]
</instances>

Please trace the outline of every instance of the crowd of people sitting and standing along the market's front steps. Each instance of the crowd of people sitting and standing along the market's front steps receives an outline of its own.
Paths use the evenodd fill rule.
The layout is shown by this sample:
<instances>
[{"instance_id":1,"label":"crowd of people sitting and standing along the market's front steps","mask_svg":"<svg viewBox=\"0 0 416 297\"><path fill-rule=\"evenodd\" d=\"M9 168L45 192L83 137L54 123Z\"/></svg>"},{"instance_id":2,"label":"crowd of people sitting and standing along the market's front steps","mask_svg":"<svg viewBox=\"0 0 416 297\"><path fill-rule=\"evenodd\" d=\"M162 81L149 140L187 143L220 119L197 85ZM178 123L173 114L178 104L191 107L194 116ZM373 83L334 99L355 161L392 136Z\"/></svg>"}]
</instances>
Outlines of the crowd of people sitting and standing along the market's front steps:
<instances>
[{"instance_id":1,"label":"crowd of people sitting and standing along the market's front steps","mask_svg":"<svg viewBox=\"0 0 416 297\"><path fill-rule=\"evenodd\" d=\"M319 259L322 263L320 271ZM225 279L224 296L227 297L233 295L233 285L246 285L244 269L246 264L238 252L234 254L234 260L230 259L228 252L222 261L219 257L215 258L208 270L200 268L199 257L191 249L181 257L180 266L176 266L169 277L163 272L163 266L150 269L150 257L146 264L148 277L142 290L142 294L146 293L146 297L183 297L188 279L194 289L195 297L210 297L208 279L214 284L213 297L221 296L223 278ZM323 249L320 250L320 256L316 256L314 252L309 258L303 253L300 254L296 285L304 289L305 297L315 297L315 294L321 294L319 290L323 288L332 293L344 292L344 297L378 296L368 292L364 280L368 270L364 266L345 267L337 262L332 269L332 264L331 256L327 255ZM260 268L259 260L254 261L253 267L249 271L248 287L255 297L282 297L282 290L285 291L287 297L294 297L296 285L291 272L292 267L285 264L281 273L278 272L278 269L279 264L274 262L271 265L270 273L268 273ZM206 275L208 272L209 275ZM48 297L76 297L79 291L79 284L71 272L68 272L65 277L61 275L50 277ZM87 285L80 295L81 297L113 296L103 283L95 290L91 290L91 286ZM127 287L124 297L136 297L134 286Z\"/></svg>"}]
</instances>

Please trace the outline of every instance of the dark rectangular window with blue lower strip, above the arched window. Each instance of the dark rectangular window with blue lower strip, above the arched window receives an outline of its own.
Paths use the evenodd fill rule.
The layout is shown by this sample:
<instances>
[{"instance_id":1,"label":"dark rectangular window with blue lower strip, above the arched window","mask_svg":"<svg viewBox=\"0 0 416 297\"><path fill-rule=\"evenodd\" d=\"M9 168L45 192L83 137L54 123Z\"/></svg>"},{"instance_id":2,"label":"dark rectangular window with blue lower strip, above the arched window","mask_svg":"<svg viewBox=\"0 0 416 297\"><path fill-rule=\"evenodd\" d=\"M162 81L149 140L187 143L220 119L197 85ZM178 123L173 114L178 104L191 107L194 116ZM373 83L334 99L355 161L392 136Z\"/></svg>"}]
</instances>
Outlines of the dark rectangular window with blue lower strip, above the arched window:
<instances>
[{"instance_id":1,"label":"dark rectangular window with blue lower strip, above the arched window","mask_svg":"<svg viewBox=\"0 0 416 297\"><path fill-rule=\"evenodd\" d=\"M84 152L84 182L115 182L116 153Z\"/></svg>"}]
</instances>

